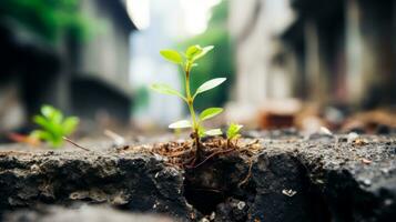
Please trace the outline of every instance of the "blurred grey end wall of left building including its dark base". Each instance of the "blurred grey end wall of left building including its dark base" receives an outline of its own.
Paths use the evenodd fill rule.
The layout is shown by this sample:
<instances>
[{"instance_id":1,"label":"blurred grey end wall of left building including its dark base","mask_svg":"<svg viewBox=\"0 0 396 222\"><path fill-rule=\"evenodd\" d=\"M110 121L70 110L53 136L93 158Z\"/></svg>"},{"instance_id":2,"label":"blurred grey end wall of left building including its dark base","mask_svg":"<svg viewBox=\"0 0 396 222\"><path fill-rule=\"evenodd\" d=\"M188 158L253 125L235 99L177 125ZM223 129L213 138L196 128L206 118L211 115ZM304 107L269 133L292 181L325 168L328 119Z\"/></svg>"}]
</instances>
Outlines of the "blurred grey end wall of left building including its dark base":
<instances>
[{"instance_id":1,"label":"blurred grey end wall of left building including its dark base","mask_svg":"<svg viewBox=\"0 0 396 222\"><path fill-rule=\"evenodd\" d=\"M71 101L75 114L91 123L128 125L132 92L129 82L130 34L135 29L123 1L81 0L80 9L98 31L74 47Z\"/></svg>"}]
</instances>

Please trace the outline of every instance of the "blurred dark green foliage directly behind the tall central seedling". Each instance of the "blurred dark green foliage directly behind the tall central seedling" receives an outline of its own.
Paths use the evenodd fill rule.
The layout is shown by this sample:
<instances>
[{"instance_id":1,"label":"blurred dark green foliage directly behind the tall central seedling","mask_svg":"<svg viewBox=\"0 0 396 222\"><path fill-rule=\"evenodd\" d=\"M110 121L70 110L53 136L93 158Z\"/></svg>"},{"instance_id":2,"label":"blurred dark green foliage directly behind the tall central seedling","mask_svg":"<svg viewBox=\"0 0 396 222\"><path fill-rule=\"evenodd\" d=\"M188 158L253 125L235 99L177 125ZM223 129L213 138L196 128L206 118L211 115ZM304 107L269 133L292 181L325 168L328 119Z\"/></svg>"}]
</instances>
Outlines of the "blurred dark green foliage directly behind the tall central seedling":
<instances>
[{"instance_id":1,"label":"blurred dark green foliage directly behind the tall central seedling","mask_svg":"<svg viewBox=\"0 0 396 222\"><path fill-rule=\"evenodd\" d=\"M207 30L194 38L181 42L177 48L184 49L191 44L216 46L213 52L202 58L200 64L192 70L191 85L194 91L203 82L216 78L227 78L227 84L214 89L212 93L197 98L195 109L223 105L230 97L230 88L234 82L233 49L227 32L227 1L222 1L213 8Z\"/></svg>"}]
</instances>

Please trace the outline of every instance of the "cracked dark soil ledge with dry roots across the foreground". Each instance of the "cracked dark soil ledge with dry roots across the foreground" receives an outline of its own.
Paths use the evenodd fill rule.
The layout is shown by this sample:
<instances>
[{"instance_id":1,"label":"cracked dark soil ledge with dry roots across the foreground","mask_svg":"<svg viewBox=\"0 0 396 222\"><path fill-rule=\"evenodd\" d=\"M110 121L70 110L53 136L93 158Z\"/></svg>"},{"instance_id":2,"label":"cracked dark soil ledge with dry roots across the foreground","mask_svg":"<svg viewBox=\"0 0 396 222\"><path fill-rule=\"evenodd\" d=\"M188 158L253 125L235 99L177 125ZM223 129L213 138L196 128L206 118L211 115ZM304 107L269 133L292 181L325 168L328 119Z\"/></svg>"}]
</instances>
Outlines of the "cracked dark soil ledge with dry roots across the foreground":
<instances>
[{"instance_id":1,"label":"cracked dark soil ledge with dry roots across the foreground","mask_svg":"<svg viewBox=\"0 0 396 222\"><path fill-rule=\"evenodd\" d=\"M145 220L125 212L179 221L396 218L396 135L247 132L233 147L203 144L195 161L189 140L89 152L8 148L0 152L0 212L3 221L21 221L21 212L35 215L24 221L44 221L83 203L110 205L131 221Z\"/></svg>"}]
</instances>

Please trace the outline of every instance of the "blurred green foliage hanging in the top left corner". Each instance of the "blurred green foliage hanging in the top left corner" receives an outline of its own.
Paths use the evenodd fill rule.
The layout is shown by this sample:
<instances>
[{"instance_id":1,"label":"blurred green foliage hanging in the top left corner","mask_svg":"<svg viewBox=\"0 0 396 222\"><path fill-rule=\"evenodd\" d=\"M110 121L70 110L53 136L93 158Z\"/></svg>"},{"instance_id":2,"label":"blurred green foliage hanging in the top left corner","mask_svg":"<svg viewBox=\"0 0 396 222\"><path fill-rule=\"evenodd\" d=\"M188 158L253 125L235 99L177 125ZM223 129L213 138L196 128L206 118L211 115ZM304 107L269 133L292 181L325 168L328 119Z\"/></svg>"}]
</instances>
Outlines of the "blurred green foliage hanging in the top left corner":
<instances>
[{"instance_id":1,"label":"blurred green foliage hanging in the top left corner","mask_svg":"<svg viewBox=\"0 0 396 222\"><path fill-rule=\"evenodd\" d=\"M62 34L82 40L88 19L79 11L79 0L0 0L1 21L17 21L47 40Z\"/></svg>"}]
</instances>

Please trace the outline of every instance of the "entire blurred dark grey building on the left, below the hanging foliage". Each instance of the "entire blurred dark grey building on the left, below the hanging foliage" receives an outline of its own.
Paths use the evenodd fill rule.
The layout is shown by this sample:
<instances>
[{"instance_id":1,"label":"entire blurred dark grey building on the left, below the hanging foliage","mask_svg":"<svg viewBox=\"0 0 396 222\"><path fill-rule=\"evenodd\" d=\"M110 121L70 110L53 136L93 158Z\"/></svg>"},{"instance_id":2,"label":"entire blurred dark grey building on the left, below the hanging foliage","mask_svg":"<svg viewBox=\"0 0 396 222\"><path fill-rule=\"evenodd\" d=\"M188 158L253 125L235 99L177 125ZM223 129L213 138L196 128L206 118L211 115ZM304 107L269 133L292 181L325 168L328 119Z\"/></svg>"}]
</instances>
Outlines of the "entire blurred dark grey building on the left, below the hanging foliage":
<instances>
[{"instance_id":1,"label":"entire blurred dark grey building on the left, below the hanging foliage","mask_svg":"<svg viewBox=\"0 0 396 222\"><path fill-rule=\"evenodd\" d=\"M91 22L94 34L77 40L69 34L72 27L61 30L55 41L42 34L45 29L39 29L51 28L40 23L45 16L51 22L54 14L38 13L47 10L45 3L16 4L20 8L8 13L16 2L0 3L0 131L26 125L43 103L85 120L128 123L129 37L135 27L124 1L78 1L80 14ZM43 9L37 9L39 6ZM33 29L30 21L35 22Z\"/></svg>"}]
</instances>

